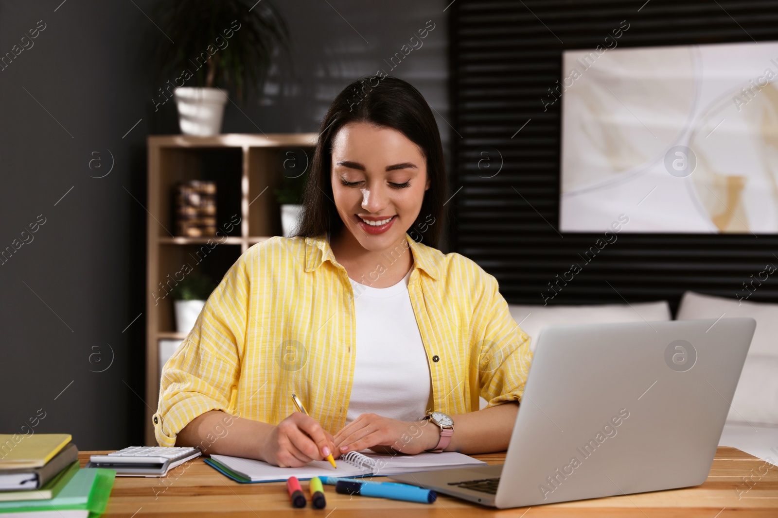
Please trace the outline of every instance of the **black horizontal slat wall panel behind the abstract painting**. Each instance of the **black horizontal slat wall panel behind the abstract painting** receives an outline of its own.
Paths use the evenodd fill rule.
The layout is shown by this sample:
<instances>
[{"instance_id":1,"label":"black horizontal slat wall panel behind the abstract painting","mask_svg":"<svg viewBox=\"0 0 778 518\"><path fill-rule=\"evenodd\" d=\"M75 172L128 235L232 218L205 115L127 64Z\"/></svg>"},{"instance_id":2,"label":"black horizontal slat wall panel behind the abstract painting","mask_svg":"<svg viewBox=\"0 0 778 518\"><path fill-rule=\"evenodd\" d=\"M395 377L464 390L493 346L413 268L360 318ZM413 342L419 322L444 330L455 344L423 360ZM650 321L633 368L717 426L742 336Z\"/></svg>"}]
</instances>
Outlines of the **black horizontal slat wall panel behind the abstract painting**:
<instances>
[{"instance_id":1,"label":"black horizontal slat wall panel behind the abstract painting","mask_svg":"<svg viewBox=\"0 0 778 518\"><path fill-rule=\"evenodd\" d=\"M685 290L778 301L778 273L766 273L778 266L778 235L622 231L584 262L603 234L558 232L562 103L544 111L541 102L562 79L562 50L594 49L622 20L620 48L778 40L776 0L457 0L448 9L450 245L496 276L508 302L666 299L675 312ZM573 262L580 273L557 283Z\"/></svg>"}]
</instances>

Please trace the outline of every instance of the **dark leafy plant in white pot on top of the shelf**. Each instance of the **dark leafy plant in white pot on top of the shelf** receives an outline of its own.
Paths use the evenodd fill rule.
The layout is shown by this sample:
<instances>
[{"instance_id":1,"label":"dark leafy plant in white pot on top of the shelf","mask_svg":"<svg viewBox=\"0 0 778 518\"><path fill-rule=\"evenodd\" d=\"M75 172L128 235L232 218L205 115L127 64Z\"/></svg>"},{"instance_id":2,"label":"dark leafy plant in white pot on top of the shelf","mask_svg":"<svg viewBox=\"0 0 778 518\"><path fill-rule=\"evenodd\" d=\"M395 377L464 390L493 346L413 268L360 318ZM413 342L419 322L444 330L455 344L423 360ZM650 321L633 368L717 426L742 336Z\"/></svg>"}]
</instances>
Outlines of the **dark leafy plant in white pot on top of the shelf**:
<instances>
[{"instance_id":1,"label":"dark leafy plant in white pot on top of the shelf","mask_svg":"<svg viewBox=\"0 0 778 518\"><path fill-rule=\"evenodd\" d=\"M163 86L152 101L156 111L174 96L187 135L219 134L229 89L238 99L261 92L275 48L289 48L289 29L269 0L161 0L155 19L151 50Z\"/></svg>"}]
</instances>

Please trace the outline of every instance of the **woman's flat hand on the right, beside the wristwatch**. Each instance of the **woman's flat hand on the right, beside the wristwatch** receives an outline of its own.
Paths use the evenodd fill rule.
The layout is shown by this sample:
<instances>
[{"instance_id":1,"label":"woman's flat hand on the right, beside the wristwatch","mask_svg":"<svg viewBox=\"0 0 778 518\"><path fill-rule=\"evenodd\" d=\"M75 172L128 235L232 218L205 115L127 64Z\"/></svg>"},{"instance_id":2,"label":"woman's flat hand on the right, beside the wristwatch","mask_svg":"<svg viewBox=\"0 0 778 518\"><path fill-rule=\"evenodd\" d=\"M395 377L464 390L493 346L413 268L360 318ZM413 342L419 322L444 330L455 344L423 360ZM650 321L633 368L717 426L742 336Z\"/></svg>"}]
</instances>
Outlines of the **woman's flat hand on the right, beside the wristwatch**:
<instances>
[{"instance_id":1,"label":"woman's flat hand on the right, beside the wristwatch","mask_svg":"<svg viewBox=\"0 0 778 518\"><path fill-rule=\"evenodd\" d=\"M405 422L377 414L362 414L335 434L335 450L341 455L366 448L380 452L419 454L436 447L440 428L427 421Z\"/></svg>"}]
</instances>

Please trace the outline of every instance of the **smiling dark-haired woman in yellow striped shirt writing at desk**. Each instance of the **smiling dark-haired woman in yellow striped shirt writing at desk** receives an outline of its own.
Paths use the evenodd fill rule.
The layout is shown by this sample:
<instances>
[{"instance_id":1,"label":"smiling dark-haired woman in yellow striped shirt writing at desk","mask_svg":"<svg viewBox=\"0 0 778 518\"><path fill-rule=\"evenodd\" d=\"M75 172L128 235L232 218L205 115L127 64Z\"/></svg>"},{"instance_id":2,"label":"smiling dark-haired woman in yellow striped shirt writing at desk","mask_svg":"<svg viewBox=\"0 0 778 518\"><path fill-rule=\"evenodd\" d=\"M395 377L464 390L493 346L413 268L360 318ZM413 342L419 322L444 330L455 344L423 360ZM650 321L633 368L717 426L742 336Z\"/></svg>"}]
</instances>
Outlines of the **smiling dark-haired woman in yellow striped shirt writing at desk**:
<instances>
[{"instance_id":1,"label":"smiling dark-haired woman in yellow striped shirt writing at desk","mask_svg":"<svg viewBox=\"0 0 778 518\"><path fill-rule=\"evenodd\" d=\"M508 446L529 337L493 276L433 248L447 197L433 113L376 79L324 116L297 234L244 253L166 363L160 445L279 466Z\"/></svg>"}]
</instances>

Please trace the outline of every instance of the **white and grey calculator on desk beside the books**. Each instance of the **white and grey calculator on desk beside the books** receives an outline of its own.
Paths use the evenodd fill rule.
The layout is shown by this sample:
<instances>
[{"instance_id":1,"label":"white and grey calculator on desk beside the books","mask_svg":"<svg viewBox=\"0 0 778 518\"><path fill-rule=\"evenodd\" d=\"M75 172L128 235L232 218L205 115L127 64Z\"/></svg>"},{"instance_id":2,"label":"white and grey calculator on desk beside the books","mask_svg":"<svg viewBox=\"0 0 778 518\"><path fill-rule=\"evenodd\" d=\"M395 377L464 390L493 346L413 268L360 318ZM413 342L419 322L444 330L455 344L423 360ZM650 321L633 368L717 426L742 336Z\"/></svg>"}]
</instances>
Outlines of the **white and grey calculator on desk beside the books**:
<instances>
[{"instance_id":1,"label":"white and grey calculator on desk beside the books","mask_svg":"<svg viewBox=\"0 0 778 518\"><path fill-rule=\"evenodd\" d=\"M92 455L86 468L108 468L124 477L164 477L171 468L199 455L195 447L131 446L107 455Z\"/></svg>"}]
</instances>

